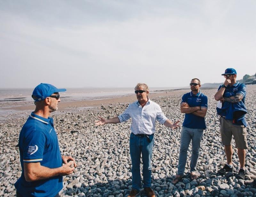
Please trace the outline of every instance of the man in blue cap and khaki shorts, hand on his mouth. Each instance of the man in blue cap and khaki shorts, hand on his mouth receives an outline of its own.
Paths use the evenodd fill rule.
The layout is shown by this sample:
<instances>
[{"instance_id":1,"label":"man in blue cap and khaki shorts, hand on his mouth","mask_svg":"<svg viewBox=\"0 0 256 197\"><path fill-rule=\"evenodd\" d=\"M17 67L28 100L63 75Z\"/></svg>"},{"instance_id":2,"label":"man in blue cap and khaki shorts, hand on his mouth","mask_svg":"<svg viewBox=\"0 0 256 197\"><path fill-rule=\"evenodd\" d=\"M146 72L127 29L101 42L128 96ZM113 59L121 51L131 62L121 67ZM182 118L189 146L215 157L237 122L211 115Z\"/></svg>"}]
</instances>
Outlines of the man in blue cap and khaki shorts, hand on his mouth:
<instances>
[{"instance_id":1,"label":"man in blue cap and khaki shorts, hand on his mouth","mask_svg":"<svg viewBox=\"0 0 256 197\"><path fill-rule=\"evenodd\" d=\"M225 77L224 84L221 85L214 95L215 100L219 101L217 113L220 115L220 135L222 144L225 146L227 164L218 171L223 175L225 172L234 170L232 165L232 135L234 136L237 154L240 163L240 170L237 178L245 178L245 150L248 148L246 141L245 107L246 87L236 81L236 70L228 68L222 74Z\"/></svg>"}]
</instances>

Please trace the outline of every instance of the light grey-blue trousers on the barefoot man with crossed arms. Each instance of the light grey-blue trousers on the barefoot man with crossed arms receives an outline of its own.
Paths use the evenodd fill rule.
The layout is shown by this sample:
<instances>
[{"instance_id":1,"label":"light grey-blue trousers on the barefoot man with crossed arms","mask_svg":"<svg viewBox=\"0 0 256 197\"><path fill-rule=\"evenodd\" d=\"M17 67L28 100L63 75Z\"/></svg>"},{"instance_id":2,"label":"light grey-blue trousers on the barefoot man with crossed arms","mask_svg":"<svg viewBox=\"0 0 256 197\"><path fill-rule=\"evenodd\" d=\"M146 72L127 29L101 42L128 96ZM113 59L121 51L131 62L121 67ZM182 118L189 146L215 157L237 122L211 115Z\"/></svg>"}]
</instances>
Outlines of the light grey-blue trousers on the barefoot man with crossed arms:
<instances>
[{"instance_id":1,"label":"light grey-blue trousers on the barefoot man with crossed arms","mask_svg":"<svg viewBox=\"0 0 256 197\"><path fill-rule=\"evenodd\" d=\"M188 146L192 139L192 154L190 161L190 171L196 171L199 157L200 142L203 136L203 129L182 127L180 132L180 156L178 165L178 175L183 175L187 162Z\"/></svg>"}]
</instances>

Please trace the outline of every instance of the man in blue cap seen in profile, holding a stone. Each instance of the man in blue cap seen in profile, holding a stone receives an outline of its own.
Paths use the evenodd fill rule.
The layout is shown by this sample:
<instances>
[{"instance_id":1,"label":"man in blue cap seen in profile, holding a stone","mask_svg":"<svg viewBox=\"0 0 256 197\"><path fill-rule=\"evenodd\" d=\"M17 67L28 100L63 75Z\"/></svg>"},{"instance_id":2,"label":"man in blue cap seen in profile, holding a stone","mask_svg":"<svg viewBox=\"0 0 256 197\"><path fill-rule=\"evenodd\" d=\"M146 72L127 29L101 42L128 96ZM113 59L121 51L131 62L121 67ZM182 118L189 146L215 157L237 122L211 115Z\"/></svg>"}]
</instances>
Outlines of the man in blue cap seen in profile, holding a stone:
<instances>
[{"instance_id":1,"label":"man in blue cap seen in profile, holding a stone","mask_svg":"<svg viewBox=\"0 0 256 197\"><path fill-rule=\"evenodd\" d=\"M63 91L66 89L51 84L39 84L33 91L36 109L23 125L19 137L22 173L15 183L17 197L59 196L62 176L73 172L73 164L76 167L74 158L61 156L53 119L49 117L58 109L59 92Z\"/></svg>"}]
</instances>

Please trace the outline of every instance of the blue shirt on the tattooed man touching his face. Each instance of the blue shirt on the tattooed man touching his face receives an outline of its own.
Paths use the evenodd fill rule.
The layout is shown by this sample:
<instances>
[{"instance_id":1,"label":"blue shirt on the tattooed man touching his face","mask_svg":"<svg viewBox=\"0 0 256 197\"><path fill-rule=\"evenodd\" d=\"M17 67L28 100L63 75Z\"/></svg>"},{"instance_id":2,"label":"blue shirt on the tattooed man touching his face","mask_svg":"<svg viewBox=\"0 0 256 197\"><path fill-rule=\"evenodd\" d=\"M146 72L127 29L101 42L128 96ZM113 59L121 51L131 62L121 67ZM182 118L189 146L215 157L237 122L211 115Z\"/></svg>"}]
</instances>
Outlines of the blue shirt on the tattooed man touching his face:
<instances>
[{"instance_id":1,"label":"blue shirt on the tattooed man touching his face","mask_svg":"<svg viewBox=\"0 0 256 197\"><path fill-rule=\"evenodd\" d=\"M220 90L219 87L218 91ZM230 103L225 101L222 103L222 108L219 110L219 115L225 116L227 120L233 120L233 124L235 125L244 125L247 126L245 115L247 113L247 109L245 106L245 97L246 97L246 86L245 84L241 84L236 82L234 85L228 86L223 94L223 97L232 97L237 94L243 95L243 99L238 103Z\"/></svg>"}]
</instances>

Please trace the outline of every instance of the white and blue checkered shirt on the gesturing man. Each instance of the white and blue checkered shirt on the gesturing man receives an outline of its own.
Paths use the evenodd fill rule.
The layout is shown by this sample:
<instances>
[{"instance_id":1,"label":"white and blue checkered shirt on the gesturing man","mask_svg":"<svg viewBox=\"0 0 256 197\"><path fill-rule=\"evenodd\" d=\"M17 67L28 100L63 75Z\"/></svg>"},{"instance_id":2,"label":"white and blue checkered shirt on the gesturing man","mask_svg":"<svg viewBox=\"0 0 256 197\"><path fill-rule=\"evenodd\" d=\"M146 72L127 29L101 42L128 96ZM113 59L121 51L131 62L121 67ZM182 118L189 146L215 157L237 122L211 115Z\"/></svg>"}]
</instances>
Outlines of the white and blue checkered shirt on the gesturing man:
<instances>
[{"instance_id":1,"label":"white and blue checkered shirt on the gesturing man","mask_svg":"<svg viewBox=\"0 0 256 197\"><path fill-rule=\"evenodd\" d=\"M130 104L127 109L118 116L120 122L132 118L132 133L151 135L156 132L156 120L161 124L167 120L160 106L148 99L147 104L142 108L138 101Z\"/></svg>"}]
</instances>

